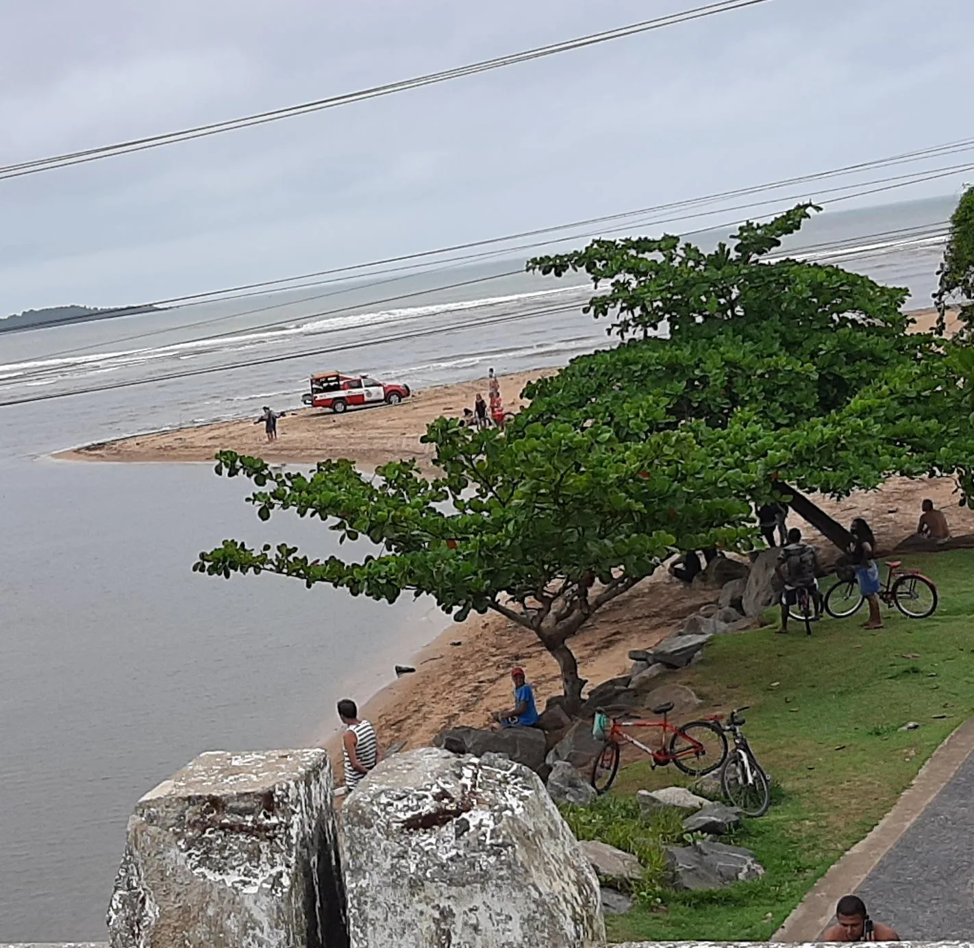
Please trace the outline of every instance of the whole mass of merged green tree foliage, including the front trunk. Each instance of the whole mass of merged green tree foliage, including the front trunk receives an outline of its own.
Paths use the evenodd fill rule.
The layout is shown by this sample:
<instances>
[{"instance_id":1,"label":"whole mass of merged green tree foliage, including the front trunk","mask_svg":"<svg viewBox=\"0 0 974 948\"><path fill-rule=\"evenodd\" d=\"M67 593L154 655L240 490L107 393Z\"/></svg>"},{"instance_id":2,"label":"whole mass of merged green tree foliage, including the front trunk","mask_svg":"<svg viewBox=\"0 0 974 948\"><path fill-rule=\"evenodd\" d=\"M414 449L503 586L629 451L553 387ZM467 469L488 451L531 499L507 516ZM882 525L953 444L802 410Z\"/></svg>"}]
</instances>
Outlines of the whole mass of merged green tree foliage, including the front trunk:
<instances>
[{"instance_id":1,"label":"whole mass of merged green tree foliage, including the front trunk","mask_svg":"<svg viewBox=\"0 0 974 948\"><path fill-rule=\"evenodd\" d=\"M194 568L390 602L429 594L458 620L494 610L539 637L577 704L571 637L677 550L751 549L752 502L786 499L786 482L844 495L890 474L956 474L974 497L969 352L908 332L905 290L772 256L811 210L746 224L709 253L640 238L531 261L588 273L588 309L614 319L618 346L529 386L504 432L433 422L432 479L410 461L371 478L351 461L291 474L222 452L217 473L251 478L262 518L317 516L373 546L319 560L228 540Z\"/></svg>"}]
</instances>

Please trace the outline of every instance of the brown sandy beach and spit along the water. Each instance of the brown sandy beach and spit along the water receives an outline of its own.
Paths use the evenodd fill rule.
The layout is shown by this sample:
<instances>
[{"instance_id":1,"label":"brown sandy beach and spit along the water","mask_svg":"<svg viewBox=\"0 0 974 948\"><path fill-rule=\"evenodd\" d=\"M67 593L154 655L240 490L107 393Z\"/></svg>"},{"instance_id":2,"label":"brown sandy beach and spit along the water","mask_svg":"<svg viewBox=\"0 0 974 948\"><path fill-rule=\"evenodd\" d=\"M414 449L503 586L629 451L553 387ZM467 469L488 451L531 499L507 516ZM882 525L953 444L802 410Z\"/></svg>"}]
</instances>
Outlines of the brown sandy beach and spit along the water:
<instances>
[{"instance_id":1,"label":"brown sandy beach and spit along the water","mask_svg":"<svg viewBox=\"0 0 974 948\"><path fill-rule=\"evenodd\" d=\"M936 318L934 311L914 316L919 330L931 326ZM503 376L506 406L514 411L522 407L519 395L524 385L552 371ZM431 452L419 442L427 424L443 414L460 415L478 392L487 392L485 379L432 388L400 405L345 415L302 409L281 420L280 439L270 445L263 428L244 419L91 444L57 457L209 462L217 450L232 448L278 463L312 464L322 458L346 457L365 470L393 459L415 457L429 472L433 470ZM947 510L955 533L974 532L974 512L957 507L955 484L949 478L893 478L880 490L861 492L841 502L816 500L842 522L865 516L881 547L888 550L916 529L920 502L926 497ZM826 543L801 521L799 525L812 542ZM686 588L664 570L657 571L599 612L573 640L582 676L598 682L621 674L630 664L627 653L631 649L653 646L715 598L714 592ZM383 746L429 743L439 731L454 725L486 726L490 712L510 702L509 669L513 664L525 667L542 705L560 693L557 665L527 630L495 614L471 616L460 624L445 616L443 621L442 634L416 656L416 672L398 679L364 705L363 713L375 723ZM333 730L332 722L327 722L320 732L320 739L332 748L337 740L331 737Z\"/></svg>"}]
</instances>

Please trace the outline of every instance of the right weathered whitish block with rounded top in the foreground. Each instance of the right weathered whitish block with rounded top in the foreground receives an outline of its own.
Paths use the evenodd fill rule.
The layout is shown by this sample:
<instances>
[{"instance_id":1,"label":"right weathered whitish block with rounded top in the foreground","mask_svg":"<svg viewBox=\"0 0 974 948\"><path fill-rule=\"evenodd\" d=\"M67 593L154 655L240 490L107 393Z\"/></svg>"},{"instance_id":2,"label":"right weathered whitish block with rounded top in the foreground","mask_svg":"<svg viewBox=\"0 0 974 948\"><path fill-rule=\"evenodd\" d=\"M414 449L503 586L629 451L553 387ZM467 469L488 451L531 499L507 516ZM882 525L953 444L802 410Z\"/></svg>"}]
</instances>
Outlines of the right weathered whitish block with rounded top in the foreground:
<instances>
[{"instance_id":1,"label":"right weathered whitish block with rounded top in the foreground","mask_svg":"<svg viewBox=\"0 0 974 948\"><path fill-rule=\"evenodd\" d=\"M369 773L342 811L352 948L588 948L599 886L542 781L435 747Z\"/></svg>"}]
</instances>

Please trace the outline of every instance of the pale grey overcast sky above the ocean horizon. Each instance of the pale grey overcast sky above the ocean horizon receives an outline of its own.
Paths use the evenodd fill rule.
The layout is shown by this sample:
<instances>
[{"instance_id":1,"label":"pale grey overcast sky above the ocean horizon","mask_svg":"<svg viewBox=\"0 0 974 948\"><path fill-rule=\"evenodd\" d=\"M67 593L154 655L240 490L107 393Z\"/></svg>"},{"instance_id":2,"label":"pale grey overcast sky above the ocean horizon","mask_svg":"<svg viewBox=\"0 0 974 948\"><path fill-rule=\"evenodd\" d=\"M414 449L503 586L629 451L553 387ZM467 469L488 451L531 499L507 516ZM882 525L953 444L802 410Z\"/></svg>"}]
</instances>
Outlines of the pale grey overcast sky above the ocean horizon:
<instances>
[{"instance_id":1,"label":"pale grey overcast sky above the ocean horizon","mask_svg":"<svg viewBox=\"0 0 974 948\"><path fill-rule=\"evenodd\" d=\"M0 0L0 164L694 5ZM974 99L972 34L971 0L773 0L258 129L0 181L0 315L283 277L971 136L963 118ZM873 201L945 194L970 178Z\"/></svg>"}]
</instances>

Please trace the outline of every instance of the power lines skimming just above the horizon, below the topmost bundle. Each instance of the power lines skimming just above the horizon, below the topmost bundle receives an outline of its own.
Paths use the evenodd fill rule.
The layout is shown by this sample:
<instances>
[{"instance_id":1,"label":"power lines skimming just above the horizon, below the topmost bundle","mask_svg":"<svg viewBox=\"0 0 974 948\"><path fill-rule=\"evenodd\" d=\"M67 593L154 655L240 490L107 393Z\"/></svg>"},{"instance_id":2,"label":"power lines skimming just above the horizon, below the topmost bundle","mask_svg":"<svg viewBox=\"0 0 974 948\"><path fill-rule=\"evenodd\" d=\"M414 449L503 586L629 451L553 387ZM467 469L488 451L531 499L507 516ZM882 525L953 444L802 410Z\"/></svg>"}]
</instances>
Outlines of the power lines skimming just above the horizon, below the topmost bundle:
<instances>
[{"instance_id":1,"label":"power lines skimming just above the horizon, below the topmost bundle","mask_svg":"<svg viewBox=\"0 0 974 948\"><path fill-rule=\"evenodd\" d=\"M503 237L492 237L492 238L486 238L478 241L469 241L464 244L442 246L431 250L421 250L414 253L401 254L398 256L386 257L384 259L379 259L379 260L372 260L366 263L350 264L343 267L334 267L327 270L318 270L312 273L299 274L293 277L281 277L275 280L265 280L257 283L250 283L250 284L239 284L237 286L229 286L222 289L206 290L200 293L188 293L181 296L169 296L163 299L153 300L147 303L138 303L129 306L117 307L114 310L112 309L102 310L101 313L103 318L104 316L110 315L112 313L122 314L122 313L131 312L132 310L148 309L150 307L156 309L164 308L164 307L169 309L177 309L183 306L198 305L200 303L205 303L205 302L227 301L231 299L239 299L245 295L256 295L256 293L246 292L248 290L255 290L255 291L264 290L267 292L271 292L273 291L272 287L277 287L278 290L284 292L291 289L304 288L305 286L318 285L318 283L301 284L299 286L284 285L284 284L295 284L298 281L316 280L317 278L334 277L336 278L335 280L320 281L320 283L334 283L334 282L339 282L341 280L355 279L353 275L356 273L360 273L361 271L373 270L377 267L385 267L390 264L403 264L403 263L407 263L408 261L420 261L435 256L441 256L442 254L445 253L454 253L458 250L473 249L474 247L497 246L500 244L507 244L515 240L521 240L526 237L537 237L543 234L554 234L560 231L576 230L578 228L588 227L594 224L609 223L612 221L622 221L628 218L640 217L646 214L653 214L659 211L684 209L684 208L692 208L694 206L715 204L719 201L726 200L729 198L745 197L751 194L759 194L763 191L771 191L780 188L791 187L792 185L796 185L796 184L805 184L805 183L810 183L812 181L826 180L828 178L838 177L843 174L850 174L859 171L870 171L870 170L894 166L894 165L909 164L911 162L922 161L924 159L942 157L949 154L956 154L958 152L971 151L971 150L974 150L974 138L960 139L958 141L948 142L942 145L933 145L933 146L928 146L926 148L920 148L912 152L903 152L900 154L891 155L886 158L872 159L867 162L859 162L852 165L846 165L843 166L842 168L830 169L828 171L811 172L808 174L799 175L797 177L783 178L781 180L771 181L766 184L751 185L745 188L736 188L730 191L716 192L714 194L702 195L696 198L690 198L683 201L675 201L667 204L654 205L647 208L618 211L613 214L605 214L598 217L583 218L581 220L572 221L569 223L555 224L547 227L536 228L533 230L520 231L515 234L507 234ZM965 166L956 166L957 169L961 169L964 167ZM917 173L922 173L922 172L917 172ZM848 187L850 188L857 187L857 186L858 185L848 185ZM843 190L843 188L837 190ZM821 193L829 193L829 192L821 192ZM757 207L757 205L751 205L745 207ZM701 216L701 215L697 215L697 216ZM673 218L673 220L681 220L681 219L684 218ZM667 221L667 220L656 221L656 223L667 223L667 222L671 222L671 221ZM647 222L647 223L653 223L653 222ZM571 236L566 235L564 238L561 238L559 240L578 240L587 236L592 236L592 235L590 234L571 235ZM497 253L513 252L516 249L534 248L536 246L547 246L550 243L554 243L554 241L540 242L537 244L531 244L525 246L511 246L506 249L498 250L496 252ZM493 254L470 254L466 257L454 257L453 259L470 260L470 259L480 258L484 255L493 255ZM419 265L420 264L418 263L414 264L414 266L419 266ZM394 270L398 270L398 269L411 269L411 268L410 267L393 268L390 270L385 270L383 272L394 272ZM372 276L372 275L373 274L369 274L368 276ZM23 326L22 330L18 328L15 331L27 331L28 329L41 329L53 325L60 325L62 323L75 323L75 322L90 322L90 321L79 321L75 317L63 317L59 319L48 320L45 322L34 323L31 326ZM200 324L205 324L205 322L207 321L201 322ZM187 325L191 325L191 324L193 323L189 323ZM131 338L135 338L135 337L131 337Z\"/></svg>"}]
</instances>

